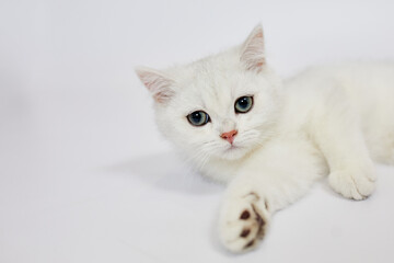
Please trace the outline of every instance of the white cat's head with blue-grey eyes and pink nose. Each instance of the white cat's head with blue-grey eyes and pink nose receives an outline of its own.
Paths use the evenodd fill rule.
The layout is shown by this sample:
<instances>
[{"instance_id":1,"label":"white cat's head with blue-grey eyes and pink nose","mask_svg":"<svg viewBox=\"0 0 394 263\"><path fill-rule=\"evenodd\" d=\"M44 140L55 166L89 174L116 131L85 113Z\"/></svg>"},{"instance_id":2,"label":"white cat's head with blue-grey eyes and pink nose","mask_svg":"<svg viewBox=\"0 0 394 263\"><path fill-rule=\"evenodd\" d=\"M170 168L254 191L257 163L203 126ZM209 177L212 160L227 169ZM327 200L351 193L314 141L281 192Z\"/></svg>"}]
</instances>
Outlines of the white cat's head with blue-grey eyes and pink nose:
<instances>
[{"instance_id":1,"label":"white cat's head with blue-grey eyes and pink nose","mask_svg":"<svg viewBox=\"0 0 394 263\"><path fill-rule=\"evenodd\" d=\"M154 99L160 130L199 163L245 157L271 135L280 113L281 84L266 64L260 25L230 50L136 72Z\"/></svg>"}]
</instances>

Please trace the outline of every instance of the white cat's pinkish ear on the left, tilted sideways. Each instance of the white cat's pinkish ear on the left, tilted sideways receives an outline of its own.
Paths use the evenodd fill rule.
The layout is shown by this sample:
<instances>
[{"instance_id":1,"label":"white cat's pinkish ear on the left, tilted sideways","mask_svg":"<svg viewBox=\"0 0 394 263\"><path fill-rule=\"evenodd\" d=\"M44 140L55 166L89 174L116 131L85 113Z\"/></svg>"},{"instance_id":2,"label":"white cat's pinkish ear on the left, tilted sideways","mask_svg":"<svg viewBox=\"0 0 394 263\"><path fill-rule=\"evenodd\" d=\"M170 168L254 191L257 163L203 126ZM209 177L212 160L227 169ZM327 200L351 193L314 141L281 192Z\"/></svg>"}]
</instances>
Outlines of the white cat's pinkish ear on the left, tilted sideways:
<instances>
[{"instance_id":1,"label":"white cat's pinkish ear on the left, tilted sideways","mask_svg":"<svg viewBox=\"0 0 394 263\"><path fill-rule=\"evenodd\" d=\"M158 103L167 102L173 95L172 85L174 81L163 72L146 67L137 67L136 73Z\"/></svg>"}]
</instances>

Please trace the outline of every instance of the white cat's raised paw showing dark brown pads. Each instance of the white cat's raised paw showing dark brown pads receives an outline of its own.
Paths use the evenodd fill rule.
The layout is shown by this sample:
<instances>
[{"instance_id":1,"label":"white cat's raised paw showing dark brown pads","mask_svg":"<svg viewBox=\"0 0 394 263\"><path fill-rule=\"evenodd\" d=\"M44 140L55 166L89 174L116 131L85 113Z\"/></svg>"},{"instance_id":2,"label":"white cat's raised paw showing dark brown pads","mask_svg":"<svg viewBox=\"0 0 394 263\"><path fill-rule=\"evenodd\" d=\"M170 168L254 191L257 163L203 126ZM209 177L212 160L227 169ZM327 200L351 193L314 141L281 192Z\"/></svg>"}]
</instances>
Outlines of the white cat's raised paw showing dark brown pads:
<instances>
[{"instance_id":1,"label":"white cat's raised paw showing dark brown pads","mask_svg":"<svg viewBox=\"0 0 394 263\"><path fill-rule=\"evenodd\" d=\"M223 205L220 216L220 239L231 252L254 249L264 237L268 225L267 204L255 193Z\"/></svg>"}]
</instances>

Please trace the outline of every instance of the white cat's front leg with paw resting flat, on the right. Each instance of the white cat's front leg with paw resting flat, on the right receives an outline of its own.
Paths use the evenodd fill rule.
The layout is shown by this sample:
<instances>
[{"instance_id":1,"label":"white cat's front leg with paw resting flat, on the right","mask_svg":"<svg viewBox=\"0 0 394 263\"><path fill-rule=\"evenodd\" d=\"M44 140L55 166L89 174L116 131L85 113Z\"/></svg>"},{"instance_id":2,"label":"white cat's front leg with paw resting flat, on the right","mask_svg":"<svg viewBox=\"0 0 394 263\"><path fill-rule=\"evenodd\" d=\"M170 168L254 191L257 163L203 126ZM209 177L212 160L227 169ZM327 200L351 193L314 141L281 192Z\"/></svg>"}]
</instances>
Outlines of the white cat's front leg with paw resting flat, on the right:
<instances>
[{"instance_id":1,"label":"white cat's front leg with paw resting flat, on the right","mask_svg":"<svg viewBox=\"0 0 394 263\"><path fill-rule=\"evenodd\" d=\"M331 186L347 198L364 199L375 186L375 172L357 115L340 92L316 111L312 135L329 167Z\"/></svg>"}]
</instances>

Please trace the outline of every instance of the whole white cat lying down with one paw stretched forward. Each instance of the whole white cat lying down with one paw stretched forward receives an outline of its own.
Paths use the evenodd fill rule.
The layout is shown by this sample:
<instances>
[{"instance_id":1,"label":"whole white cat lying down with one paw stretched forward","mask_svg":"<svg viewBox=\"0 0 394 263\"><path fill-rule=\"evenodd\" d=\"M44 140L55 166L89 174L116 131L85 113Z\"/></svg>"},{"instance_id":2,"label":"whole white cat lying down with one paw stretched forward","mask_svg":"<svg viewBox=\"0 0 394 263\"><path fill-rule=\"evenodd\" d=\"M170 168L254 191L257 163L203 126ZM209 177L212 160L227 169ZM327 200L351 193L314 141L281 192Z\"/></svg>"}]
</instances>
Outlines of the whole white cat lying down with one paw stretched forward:
<instances>
[{"instance_id":1,"label":"whole white cat lying down with one paw stretched forward","mask_svg":"<svg viewBox=\"0 0 394 263\"><path fill-rule=\"evenodd\" d=\"M137 68L160 130L206 176L229 183L223 245L256 247L271 216L328 174L345 197L374 190L372 159L394 164L394 65L317 67L281 80L260 25L237 47L164 71Z\"/></svg>"}]
</instances>

